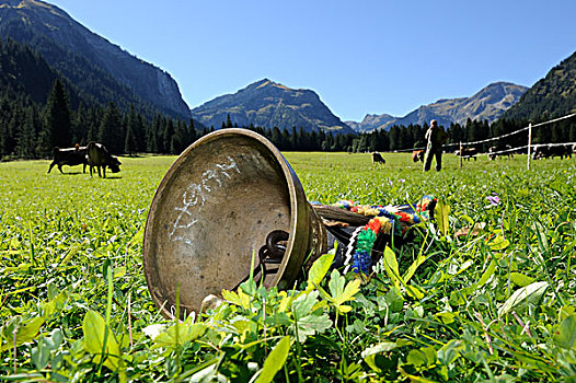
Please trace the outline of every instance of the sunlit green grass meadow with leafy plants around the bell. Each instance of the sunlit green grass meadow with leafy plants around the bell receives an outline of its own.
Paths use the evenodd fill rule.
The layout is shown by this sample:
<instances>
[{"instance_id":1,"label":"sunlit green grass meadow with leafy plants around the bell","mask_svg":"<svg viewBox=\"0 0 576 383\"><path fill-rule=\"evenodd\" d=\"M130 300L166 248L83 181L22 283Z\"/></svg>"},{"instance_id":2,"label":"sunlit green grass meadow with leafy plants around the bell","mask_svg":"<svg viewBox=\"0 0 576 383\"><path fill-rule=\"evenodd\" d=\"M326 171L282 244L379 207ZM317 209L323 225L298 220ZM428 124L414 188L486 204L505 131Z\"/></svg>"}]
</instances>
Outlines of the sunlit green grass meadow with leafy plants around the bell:
<instances>
[{"instance_id":1,"label":"sunlit green grass meadow with leafy plants around the bell","mask_svg":"<svg viewBox=\"0 0 576 383\"><path fill-rule=\"evenodd\" d=\"M434 195L369 278L329 270L293 290L253 281L184 322L162 317L142 233L174 156L90 177L0 163L0 380L38 382L576 381L576 159L285 153L310 201ZM434 169L434 164L433 164ZM489 198L488 198L489 197Z\"/></svg>"}]
</instances>

